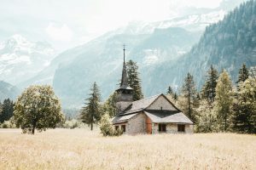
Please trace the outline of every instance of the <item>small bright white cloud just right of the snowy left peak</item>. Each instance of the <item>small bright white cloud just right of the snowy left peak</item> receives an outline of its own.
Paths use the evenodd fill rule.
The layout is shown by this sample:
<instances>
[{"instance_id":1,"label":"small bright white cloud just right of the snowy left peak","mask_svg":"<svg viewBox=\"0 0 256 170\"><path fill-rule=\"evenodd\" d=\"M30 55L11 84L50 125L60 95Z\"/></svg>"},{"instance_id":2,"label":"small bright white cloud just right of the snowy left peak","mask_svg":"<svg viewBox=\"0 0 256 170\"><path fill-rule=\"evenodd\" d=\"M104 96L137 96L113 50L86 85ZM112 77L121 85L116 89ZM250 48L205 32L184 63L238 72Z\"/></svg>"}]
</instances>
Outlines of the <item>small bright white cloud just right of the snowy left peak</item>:
<instances>
[{"instance_id":1,"label":"small bright white cloud just right of the snowy left peak","mask_svg":"<svg viewBox=\"0 0 256 170\"><path fill-rule=\"evenodd\" d=\"M49 23L45 31L54 41L69 42L73 38L73 31L66 24L57 26L54 23Z\"/></svg>"}]
</instances>

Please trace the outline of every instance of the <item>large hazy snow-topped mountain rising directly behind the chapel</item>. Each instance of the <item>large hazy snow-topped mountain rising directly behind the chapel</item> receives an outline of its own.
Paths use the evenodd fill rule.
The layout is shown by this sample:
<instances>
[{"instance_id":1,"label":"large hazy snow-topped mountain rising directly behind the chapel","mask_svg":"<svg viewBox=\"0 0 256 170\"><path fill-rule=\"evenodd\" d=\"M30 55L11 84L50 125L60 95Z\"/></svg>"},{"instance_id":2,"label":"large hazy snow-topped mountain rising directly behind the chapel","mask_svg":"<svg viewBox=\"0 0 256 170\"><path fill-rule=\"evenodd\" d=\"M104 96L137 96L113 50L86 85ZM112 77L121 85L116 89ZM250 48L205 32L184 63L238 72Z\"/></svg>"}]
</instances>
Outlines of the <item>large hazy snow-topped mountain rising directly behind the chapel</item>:
<instances>
[{"instance_id":1,"label":"large hazy snow-topped mountain rising directly behind the chapel","mask_svg":"<svg viewBox=\"0 0 256 170\"><path fill-rule=\"evenodd\" d=\"M197 57L189 50L199 42L206 26L224 19L224 14L234 5L230 2L214 9L191 9L188 14L171 20L132 22L59 54L38 75L21 84L26 87L32 83L52 83L64 108L82 105L93 82L100 85L102 99L106 99L119 83L125 42L126 59L133 59L139 65L144 94L163 93L170 84L180 86L185 73L195 69L189 61L193 60L197 66L194 60ZM197 80L203 80L207 65L196 68L202 71Z\"/></svg>"}]
</instances>

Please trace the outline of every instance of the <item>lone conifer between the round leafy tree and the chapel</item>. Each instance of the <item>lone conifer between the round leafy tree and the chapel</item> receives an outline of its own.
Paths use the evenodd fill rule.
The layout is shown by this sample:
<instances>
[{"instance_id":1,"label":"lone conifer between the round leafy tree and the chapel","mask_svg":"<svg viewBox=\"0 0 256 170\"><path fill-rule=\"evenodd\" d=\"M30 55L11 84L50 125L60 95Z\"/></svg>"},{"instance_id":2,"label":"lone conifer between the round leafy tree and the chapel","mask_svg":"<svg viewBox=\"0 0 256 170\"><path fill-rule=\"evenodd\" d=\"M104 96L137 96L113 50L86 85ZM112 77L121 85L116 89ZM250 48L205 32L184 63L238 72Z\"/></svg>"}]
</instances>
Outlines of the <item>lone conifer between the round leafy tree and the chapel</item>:
<instances>
[{"instance_id":1,"label":"lone conifer between the round leafy tree and the chapel","mask_svg":"<svg viewBox=\"0 0 256 170\"><path fill-rule=\"evenodd\" d=\"M82 122L90 125L90 130L93 130L93 124L101 120L102 106L101 93L96 82L90 88L90 96L86 99L85 106L81 110L80 118Z\"/></svg>"}]
</instances>

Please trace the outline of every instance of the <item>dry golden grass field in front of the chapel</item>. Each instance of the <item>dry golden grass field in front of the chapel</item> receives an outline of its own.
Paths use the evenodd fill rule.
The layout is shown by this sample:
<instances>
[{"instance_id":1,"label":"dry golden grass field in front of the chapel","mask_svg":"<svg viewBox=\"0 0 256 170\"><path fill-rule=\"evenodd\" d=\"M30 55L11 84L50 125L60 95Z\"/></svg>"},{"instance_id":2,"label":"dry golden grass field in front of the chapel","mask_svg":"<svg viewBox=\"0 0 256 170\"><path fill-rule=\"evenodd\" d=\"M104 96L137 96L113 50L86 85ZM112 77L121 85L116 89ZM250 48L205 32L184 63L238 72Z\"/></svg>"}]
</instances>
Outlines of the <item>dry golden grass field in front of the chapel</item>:
<instances>
[{"instance_id":1,"label":"dry golden grass field in front of the chapel","mask_svg":"<svg viewBox=\"0 0 256 170\"><path fill-rule=\"evenodd\" d=\"M256 169L256 136L0 129L0 169Z\"/></svg>"}]
</instances>

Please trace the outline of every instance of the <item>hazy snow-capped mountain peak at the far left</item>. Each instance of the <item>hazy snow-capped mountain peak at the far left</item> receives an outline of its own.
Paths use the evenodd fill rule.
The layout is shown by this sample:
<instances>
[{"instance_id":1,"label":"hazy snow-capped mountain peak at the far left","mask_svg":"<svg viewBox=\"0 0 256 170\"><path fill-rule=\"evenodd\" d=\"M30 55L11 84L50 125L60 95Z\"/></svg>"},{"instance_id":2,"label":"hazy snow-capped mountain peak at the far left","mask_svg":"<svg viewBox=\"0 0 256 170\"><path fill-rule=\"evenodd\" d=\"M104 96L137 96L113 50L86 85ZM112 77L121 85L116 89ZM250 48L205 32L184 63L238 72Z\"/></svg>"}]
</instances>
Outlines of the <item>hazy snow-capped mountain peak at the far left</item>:
<instances>
[{"instance_id":1,"label":"hazy snow-capped mountain peak at the far left","mask_svg":"<svg viewBox=\"0 0 256 170\"><path fill-rule=\"evenodd\" d=\"M55 50L47 42L30 42L18 34L0 42L0 80L18 84L49 65Z\"/></svg>"}]
</instances>

